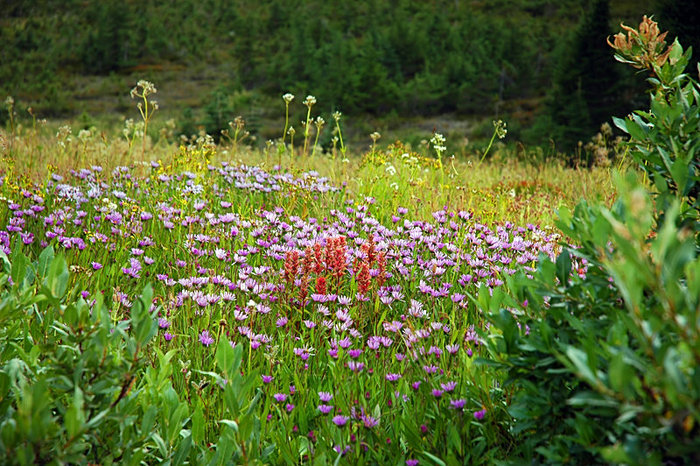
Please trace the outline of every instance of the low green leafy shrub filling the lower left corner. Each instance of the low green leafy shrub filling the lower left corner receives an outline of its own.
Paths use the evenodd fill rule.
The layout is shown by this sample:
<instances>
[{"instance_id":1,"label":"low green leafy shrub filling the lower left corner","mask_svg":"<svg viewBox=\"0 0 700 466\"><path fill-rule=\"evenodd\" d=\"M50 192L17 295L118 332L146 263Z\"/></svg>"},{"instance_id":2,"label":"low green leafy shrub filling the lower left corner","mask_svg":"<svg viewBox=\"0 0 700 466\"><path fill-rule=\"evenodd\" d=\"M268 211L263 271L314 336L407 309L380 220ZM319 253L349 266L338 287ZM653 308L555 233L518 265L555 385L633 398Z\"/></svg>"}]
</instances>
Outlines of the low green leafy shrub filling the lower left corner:
<instances>
[{"instance_id":1,"label":"low green leafy shrub filling the lower left corner","mask_svg":"<svg viewBox=\"0 0 700 466\"><path fill-rule=\"evenodd\" d=\"M34 263L13 250L12 260L0 253L0 455L9 464L255 464L272 452L260 439L254 374L239 372L241 346L222 339L217 349L221 375L207 375L223 387L230 419L207 423L201 403L172 386L175 351L149 345L150 286L114 322L101 295L86 301L70 289L53 249Z\"/></svg>"}]
</instances>

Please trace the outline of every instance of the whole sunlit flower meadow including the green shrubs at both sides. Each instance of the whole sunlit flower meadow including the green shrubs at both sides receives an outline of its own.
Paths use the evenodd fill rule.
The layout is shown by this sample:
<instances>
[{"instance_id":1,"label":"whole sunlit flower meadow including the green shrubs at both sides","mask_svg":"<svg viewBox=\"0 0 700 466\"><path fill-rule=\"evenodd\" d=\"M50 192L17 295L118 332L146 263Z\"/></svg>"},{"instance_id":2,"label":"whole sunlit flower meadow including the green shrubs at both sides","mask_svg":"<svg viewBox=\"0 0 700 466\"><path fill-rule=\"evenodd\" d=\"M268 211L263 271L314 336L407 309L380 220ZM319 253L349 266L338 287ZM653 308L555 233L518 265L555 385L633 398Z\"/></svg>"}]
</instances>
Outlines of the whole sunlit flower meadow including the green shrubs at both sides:
<instances>
[{"instance_id":1,"label":"whole sunlit flower meadow including the green shrubs at both sides","mask_svg":"<svg viewBox=\"0 0 700 466\"><path fill-rule=\"evenodd\" d=\"M147 82L132 92L143 123L121 139L59 133L63 169L43 163L56 154L47 140L11 128L5 458L692 461L698 88L683 74L689 52L666 52L655 23L642 26L614 45L655 73L653 110L616 122L650 181L620 181L617 204L573 213L546 178L504 174L490 144L460 161L440 134L421 152L376 133L353 157L336 114L321 148L312 96L302 130L286 121L258 152L242 120L218 144L149 138ZM646 47L657 55L643 61ZM602 201L612 194L600 171L542 170L589 173ZM559 229L538 212L552 207Z\"/></svg>"}]
</instances>

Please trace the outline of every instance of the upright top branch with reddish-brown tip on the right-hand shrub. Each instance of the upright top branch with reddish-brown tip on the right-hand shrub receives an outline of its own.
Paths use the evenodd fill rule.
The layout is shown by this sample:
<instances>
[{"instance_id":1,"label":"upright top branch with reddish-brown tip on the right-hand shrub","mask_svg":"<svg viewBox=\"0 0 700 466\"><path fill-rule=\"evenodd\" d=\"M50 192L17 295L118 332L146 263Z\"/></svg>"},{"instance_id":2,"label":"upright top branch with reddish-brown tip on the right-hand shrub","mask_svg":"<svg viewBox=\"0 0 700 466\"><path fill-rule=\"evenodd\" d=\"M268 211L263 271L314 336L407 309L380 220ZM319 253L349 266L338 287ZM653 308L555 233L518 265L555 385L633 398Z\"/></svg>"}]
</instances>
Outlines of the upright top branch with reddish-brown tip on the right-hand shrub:
<instances>
[{"instance_id":1,"label":"upright top branch with reddish-brown tip on the right-hand shrub","mask_svg":"<svg viewBox=\"0 0 700 466\"><path fill-rule=\"evenodd\" d=\"M650 73L653 86L649 111L628 118L613 118L630 135L630 153L654 184L657 208L668 210L680 200L679 220L700 231L700 85L685 68L692 49L683 50L678 40L666 47L667 33L644 17L638 30L615 35L608 44L615 59Z\"/></svg>"}]
</instances>

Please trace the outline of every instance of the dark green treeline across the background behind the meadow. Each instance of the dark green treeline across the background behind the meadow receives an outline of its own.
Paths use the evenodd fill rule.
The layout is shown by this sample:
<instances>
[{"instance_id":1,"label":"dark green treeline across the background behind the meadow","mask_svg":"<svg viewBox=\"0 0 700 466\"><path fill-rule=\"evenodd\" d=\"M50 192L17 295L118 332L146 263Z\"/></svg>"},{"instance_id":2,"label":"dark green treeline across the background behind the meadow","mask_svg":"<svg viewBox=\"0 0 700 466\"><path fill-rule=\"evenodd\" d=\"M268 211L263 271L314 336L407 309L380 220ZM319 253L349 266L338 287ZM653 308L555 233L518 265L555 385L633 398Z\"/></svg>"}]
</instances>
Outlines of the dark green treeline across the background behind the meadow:
<instances>
[{"instance_id":1,"label":"dark green treeline across the background behind the meadow","mask_svg":"<svg viewBox=\"0 0 700 466\"><path fill-rule=\"evenodd\" d=\"M85 76L138 76L200 94L169 102L190 120L185 107L225 120L290 91L346 114L506 117L513 135L569 146L634 105L604 43L617 23L658 12L684 43L700 37L694 2L669 0L4 3L0 93L42 116L97 99Z\"/></svg>"}]
</instances>

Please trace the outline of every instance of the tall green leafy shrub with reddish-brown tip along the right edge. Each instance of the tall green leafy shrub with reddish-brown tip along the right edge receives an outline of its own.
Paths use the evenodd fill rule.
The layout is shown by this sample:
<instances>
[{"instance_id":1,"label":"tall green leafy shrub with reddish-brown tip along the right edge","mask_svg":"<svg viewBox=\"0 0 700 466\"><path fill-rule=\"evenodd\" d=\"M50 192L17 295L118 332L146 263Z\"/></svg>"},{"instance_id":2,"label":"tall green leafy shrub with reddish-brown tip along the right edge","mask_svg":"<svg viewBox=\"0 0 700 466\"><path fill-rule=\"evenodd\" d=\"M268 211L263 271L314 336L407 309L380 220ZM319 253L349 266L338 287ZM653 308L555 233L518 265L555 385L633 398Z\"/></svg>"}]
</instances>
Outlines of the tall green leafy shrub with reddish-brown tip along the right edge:
<instances>
[{"instance_id":1,"label":"tall green leafy shrub with reddish-brown tip along the right edge","mask_svg":"<svg viewBox=\"0 0 700 466\"><path fill-rule=\"evenodd\" d=\"M628 32L636 45L617 36L618 59L653 71L655 90L650 112L616 123L654 190L619 176L612 208L562 209L558 226L577 246L512 277L508 294L480 296L523 459L700 461L698 87L683 74L690 52L664 51L656 23Z\"/></svg>"}]
</instances>

